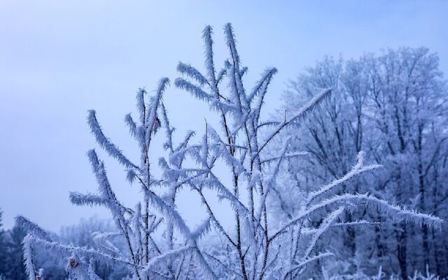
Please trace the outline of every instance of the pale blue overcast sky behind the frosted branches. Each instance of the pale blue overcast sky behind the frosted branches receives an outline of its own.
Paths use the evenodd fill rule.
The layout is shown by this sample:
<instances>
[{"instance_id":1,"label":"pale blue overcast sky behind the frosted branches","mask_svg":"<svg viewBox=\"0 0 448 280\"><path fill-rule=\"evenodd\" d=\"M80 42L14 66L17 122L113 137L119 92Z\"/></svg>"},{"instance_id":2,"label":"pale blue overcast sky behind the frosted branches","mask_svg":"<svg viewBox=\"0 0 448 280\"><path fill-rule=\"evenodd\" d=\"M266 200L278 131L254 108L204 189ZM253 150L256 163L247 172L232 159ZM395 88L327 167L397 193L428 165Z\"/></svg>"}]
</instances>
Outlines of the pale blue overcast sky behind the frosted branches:
<instances>
[{"instance_id":1,"label":"pale blue overcast sky behind the frosted branches","mask_svg":"<svg viewBox=\"0 0 448 280\"><path fill-rule=\"evenodd\" d=\"M135 91L177 77L178 61L202 68L201 32L232 22L248 85L267 66L276 75L271 112L288 79L325 54L359 57L387 47L429 47L448 72L448 1L22 1L0 0L0 208L6 228L23 214L57 230L97 214L70 205L69 191L94 191L85 152L97 148L85 124L97 110L104 131L138 159L123 117ZM217 61L221 66L221 61ZM171 87L165 95L178 133L213 119L198 101ZM160 140L159 140L160 141ZM105 154L100 153L102 158ZM153 152L157 162L160 151ZM138 186L106 164L120 200L135 205ZM180 210L197 219L189 196Z\"/></svg>"}]
</instances>

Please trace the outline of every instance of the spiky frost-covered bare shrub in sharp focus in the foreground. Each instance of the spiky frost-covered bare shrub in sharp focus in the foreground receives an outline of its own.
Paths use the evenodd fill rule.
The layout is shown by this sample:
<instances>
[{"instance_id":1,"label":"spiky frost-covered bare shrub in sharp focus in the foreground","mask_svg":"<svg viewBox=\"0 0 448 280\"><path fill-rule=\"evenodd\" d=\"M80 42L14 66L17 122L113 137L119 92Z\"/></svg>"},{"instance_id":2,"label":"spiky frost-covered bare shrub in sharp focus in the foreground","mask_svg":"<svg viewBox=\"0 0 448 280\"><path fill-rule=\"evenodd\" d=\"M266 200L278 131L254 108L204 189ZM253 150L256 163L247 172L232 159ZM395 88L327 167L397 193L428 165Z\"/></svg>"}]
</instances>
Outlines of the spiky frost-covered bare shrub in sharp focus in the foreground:
<instances>
[{"instance_id":1,"label":"spiky frost-covered bare shrub in sharp focus in the foreground","mask_svg":"<svg viewBox=\"0 0 448 280\"><path fill-rule=\"evenodd\" d=\"M411 221L433 228L440 219L414 210L393 206L369 194L335 191L353 177L370 172L380 165L365 163L363 152L356 154L357 162L337 178L305 193L295 189L295 209L281 223L274 221L268 200L278 198L280 186L293 184L286 163L297 161L305 152L291 152L290 141L283 140L277 153L269 149L281 132L289 126L312 117L312 112L332 94L323 89L300 108L281 119L263 119L265 95L276 73L267 68L252 89L244 85L246 67L241 65L235 35L230 24L224 27L228 59L216 70L212 29L203 31L204 73L190 64L179 63L182 75L176 87L204 101L220 118L214 126L207 121L200 140L187 133L180 143L174 142L174 128L162 95L169 80L163 78L153 96L144 89L137 94L137 119L127 115L130 134L137 140L140 160L128 159L109 140L99 125L96 113L89 112L87 120L99 145L126 171L130 182L141 186L143 198L135 207L118 200L109 182L104 162L94 150L88 152L92 172L97 178L97 193L70 195L76 205L103 206L110 210L116 229L111 233L95 233L92 238L98 247L70 246L55 242L45 230L23 217L18 223L29 230L25 238L25 264L29 279L41 276L34 263L34 250L47 250L64 260L73 279L100 279L95 263L122 265L132 279L297 279L309 264L332 256L329 248L316 246L331 228L365 226L367 221L346 221L345 214L362 207L381 212L396 221ZM165 133L163 148L166 155L159 159L161 177L152 173L150 147L156 133ZM355 160L355 159L353 159ZM226 171L223 171L226 170ZM190 228L176 207L181 189L196 193L202 202L207 219ZM230 205L225 213L234 218L233 230L227 230L218 219L209 194ZM320 217L319 223L311 218ZM157 229L163 238L156 235ZM202 239L213 231L222 242L205 246ZM125 241L120 250L114 240Z\"/></svg>"}]
</instances>

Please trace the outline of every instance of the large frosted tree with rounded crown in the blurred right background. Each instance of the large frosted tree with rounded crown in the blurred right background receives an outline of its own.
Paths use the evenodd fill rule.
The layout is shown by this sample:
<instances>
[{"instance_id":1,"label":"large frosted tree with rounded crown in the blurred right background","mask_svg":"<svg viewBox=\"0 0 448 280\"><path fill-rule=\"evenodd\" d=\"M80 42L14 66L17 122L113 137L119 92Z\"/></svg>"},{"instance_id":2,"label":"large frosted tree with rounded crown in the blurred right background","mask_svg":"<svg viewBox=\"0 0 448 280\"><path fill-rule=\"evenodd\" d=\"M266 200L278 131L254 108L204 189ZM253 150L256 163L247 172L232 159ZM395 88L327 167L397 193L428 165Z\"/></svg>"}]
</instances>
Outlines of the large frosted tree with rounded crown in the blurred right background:
<instances>
[{"instance_id":1,"label":"large frosted tree with rounded crown in the blurred right background","mask_svg":"<svg viewBox=\"0 0 448 280\"><path fill-rule=\"evenodd\" d=\"M353 154L365 150L384 169L368 180L352 180L344 189L369 191L446 219L448 98L437 61L425 48L400 48L349 61L327 57L307 68L290 83L286 110L293 110L322 88L332 87L335 94L302 126L288 131L298 135L293 149L311 154L289 165L291 172L300 173L295 182L313 191L316 184L343 174ZM414 270L425 270L426 265L433 273L448 274L443 230L387 223L381 213L362 209L351 216L361 218L386 225L363 228L356 235L353 228L327 241L336 246L344 240L349 246L339 247L339 253L358 255L352 263L359 268L374 272L382 266L385 272L400 272L404 279Z\"/></svg>"}]
</instances>

